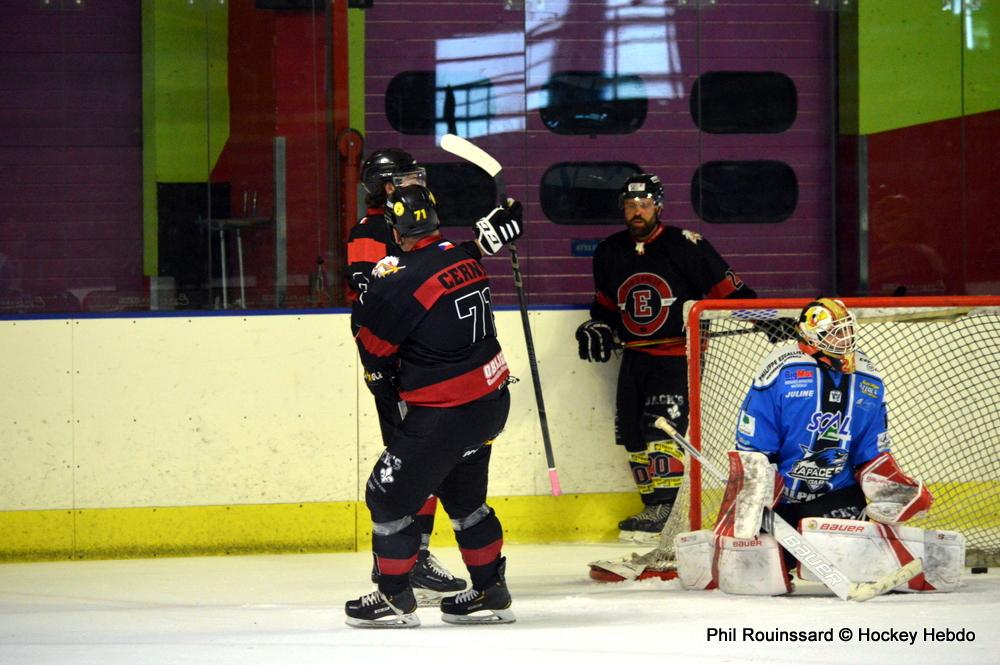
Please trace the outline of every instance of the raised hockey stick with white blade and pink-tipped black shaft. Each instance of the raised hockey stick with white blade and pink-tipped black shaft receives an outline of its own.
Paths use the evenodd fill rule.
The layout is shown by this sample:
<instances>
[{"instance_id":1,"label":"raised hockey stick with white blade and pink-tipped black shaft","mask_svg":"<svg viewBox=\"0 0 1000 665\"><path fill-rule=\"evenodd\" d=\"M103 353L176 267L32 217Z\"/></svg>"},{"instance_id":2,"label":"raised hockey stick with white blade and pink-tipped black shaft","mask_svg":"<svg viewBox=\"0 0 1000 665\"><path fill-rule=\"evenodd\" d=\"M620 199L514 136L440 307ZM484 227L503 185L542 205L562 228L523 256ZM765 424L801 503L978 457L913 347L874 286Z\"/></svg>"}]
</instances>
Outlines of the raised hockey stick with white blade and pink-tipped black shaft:
<instances>
[{"instance_id":1,"label":"raised hockey stick with white blade and pink-tipped black shaft","mask_svg":"<svg viewBox=\"0 0 1000 665\"><path fill-rule=\"evenodd\" d=\"M445 134L441 137L441 148L472 162L493 178L497 187L497 198L500 205L507 204L507 187L503 181L503 167L485 150L467 139L455 134ZM549 483L552 485L552 496L562 494L559 486L559 474L556 472L555 457L552 454L552 441L549 438L549 421L545 415L545 401L542 399L542 381L538 375L538 362L535 360L535 343L531 337L531 324L528 322L528 305L524 297L524 282L521 279L521 265L517 258L517 247L514 243L507 245L510 249L510 267L514 272L514 288L517 290L517 303L521 310L521 326L524 328L524 342L528 347L528 364L531 366L531 382L535 386L535 403L538 405L538 421L542 427L542 443L545 445L545 461L549 467Z\"/></svg>"}]
</instances>

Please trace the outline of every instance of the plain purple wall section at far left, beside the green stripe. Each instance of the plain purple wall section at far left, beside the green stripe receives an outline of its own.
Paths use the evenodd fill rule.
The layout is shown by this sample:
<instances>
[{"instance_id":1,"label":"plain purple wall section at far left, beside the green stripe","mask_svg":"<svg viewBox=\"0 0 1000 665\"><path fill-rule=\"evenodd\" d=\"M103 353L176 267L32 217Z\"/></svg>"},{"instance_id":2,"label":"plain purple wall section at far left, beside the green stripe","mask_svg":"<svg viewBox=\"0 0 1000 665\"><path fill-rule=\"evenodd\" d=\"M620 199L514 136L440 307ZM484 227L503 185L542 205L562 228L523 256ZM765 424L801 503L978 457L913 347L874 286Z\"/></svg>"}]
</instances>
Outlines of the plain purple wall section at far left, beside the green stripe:
<instances>
[{"instance_id":1,"label":"plain purple wall section at far left, beside the green stripe","mask_svg":"<svg viewBox=\"0 0 1000 665\"><path fill-rule=\"evenodd\" d=\"M41 6L0 3L0 312L145 292L140 3Z\"/></svg>"}]
</instances>

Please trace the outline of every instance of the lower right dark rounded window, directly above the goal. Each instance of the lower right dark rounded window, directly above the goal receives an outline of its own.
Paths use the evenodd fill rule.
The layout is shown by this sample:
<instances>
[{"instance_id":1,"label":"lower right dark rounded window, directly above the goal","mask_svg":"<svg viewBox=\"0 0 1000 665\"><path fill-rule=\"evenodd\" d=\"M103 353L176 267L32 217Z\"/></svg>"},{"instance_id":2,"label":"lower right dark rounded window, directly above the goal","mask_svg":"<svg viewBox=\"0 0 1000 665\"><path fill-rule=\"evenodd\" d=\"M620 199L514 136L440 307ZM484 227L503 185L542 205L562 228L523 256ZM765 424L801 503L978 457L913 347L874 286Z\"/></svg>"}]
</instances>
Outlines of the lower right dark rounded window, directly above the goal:
<instances>
[{"instance_id":1,"label":"lower right dark rounded window, directly above the goal","mask_svg":"<svg viewBox=\"0 0 1000 665\"><path fill-rule=\"evenodd\" d=\"M784 162L705 162L691 179L691 204L713 224L773 224L799 200L795 171Z\"/></svg>"}]
</instances>

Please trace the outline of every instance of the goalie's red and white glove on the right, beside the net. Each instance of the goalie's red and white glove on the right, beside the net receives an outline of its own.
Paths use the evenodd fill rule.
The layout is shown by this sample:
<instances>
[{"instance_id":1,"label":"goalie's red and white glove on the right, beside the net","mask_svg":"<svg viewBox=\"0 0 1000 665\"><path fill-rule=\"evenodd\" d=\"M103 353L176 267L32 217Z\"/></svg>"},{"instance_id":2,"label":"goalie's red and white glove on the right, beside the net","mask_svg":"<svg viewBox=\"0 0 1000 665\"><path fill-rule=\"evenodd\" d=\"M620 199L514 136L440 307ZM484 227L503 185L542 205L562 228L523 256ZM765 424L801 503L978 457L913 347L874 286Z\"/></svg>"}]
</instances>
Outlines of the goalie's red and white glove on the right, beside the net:
<instances>
[{"instance_id":1,"label":"goalie's red and white glove on the right, beside the net","mask_svg":"<svg viewBox=\"0 0 1000 665\"><path fill-rule=\"evenodd\" d=\"M927 512L934 497L920 481L910 478L896 464L892 453L882 453L857 473L868 499L868 517L883 524L898 524Z\"/></svg>"}]
</instances>

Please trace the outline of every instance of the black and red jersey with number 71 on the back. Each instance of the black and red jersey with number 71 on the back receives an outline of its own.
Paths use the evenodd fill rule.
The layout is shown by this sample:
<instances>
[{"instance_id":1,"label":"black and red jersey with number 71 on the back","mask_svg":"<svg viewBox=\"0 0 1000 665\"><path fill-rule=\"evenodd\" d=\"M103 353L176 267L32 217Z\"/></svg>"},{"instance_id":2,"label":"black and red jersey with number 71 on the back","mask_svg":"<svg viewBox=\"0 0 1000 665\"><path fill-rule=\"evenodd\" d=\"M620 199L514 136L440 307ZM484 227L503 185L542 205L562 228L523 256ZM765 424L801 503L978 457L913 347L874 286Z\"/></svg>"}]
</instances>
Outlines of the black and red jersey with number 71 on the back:
<instances>
[{"instance_id":1,"label":"black and red jersey with number 71 on the back","mask_svg":"<svg viewBox=\"0 0 1000 665\"><path fill-rule=\"evenodd\" d=\"M398 259L398 260L394 260ZM399 379L408 404L459 406L509 375L478 252L438 235L388 257L355 303L361 362Z\"/></svg>"}]
</instances>

